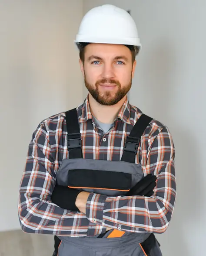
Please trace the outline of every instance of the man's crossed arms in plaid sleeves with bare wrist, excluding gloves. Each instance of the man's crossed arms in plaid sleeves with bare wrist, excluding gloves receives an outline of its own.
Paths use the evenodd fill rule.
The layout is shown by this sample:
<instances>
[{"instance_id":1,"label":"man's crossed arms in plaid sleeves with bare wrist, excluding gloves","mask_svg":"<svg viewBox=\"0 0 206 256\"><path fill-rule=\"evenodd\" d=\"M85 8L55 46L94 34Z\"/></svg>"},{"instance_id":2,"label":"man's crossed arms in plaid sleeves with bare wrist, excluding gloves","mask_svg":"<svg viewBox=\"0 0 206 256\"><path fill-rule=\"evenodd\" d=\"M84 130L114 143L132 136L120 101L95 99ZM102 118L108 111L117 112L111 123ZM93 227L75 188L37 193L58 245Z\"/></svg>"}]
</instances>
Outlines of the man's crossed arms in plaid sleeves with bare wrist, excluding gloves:
<instances>
[{"instance_id":1,"label":"man's crossed arms in plaid sleeves with bare wrist, excluding gloves","mask_svg":"<svg viewBox=\"0 0 206 256\"><path fill-rule=\"evenodd\" d=\"M153 140L149 139L151 145L147 147L143 171L157 177L153 197L107 197L81 192L76 200L80 211L71 211L51 201L56 174L49 134L45 126L40 124L29 145L19 190L18 212L22 230L59 236L96 236L104 233L106 228L120 228L129 232L164 232L169 225L176 198L175 152L166 127L159 130Z\"/></svg>"}]
</instances>

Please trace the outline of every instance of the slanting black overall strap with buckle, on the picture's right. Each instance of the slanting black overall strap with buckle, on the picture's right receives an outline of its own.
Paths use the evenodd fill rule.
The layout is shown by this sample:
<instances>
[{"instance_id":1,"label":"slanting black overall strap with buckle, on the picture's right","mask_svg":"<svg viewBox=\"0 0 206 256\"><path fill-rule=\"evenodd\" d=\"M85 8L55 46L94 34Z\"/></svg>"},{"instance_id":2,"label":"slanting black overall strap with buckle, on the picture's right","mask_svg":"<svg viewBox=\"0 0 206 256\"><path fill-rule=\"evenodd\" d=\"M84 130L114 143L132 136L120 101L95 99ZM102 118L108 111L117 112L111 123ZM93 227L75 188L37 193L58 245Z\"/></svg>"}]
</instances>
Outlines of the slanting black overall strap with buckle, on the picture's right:
<instances>
[{"instance_id":1,"label":"slanting black overall strap with buckle, on the picture's right","mask_svg":"<svg viewBox=\"0 0 206 256\"><path fill-rule=\"evenodd\" d=\"M129 136L127 136L126 138L121 161L135 163L135 156L137 154L141 137L146 127L152 120L153 118L151 118L150 116L146 116L145 114L142 114L140 116L140 118L135 123L133 129L131 130Z\"/></svg>"}]
</instances>

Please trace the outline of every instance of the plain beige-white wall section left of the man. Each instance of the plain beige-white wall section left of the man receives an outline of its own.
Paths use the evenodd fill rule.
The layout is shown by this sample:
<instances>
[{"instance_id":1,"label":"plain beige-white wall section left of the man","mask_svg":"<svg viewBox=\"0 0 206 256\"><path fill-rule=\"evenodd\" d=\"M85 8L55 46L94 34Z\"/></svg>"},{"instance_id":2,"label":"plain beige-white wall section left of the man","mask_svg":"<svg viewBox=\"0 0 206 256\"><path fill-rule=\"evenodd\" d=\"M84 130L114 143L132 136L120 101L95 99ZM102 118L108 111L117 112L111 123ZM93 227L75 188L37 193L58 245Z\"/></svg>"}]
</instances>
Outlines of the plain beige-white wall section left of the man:
<instances>
[{"instance_id":1,"label":"plain beige-white wall section left of the man","mask_svg":"<svg viewBox=\"0 0 206 256\"><path fill-rule=\"evenodd\" d=\"M0 231L19 229L28 144L45 118L83 101L73 40L82 0L0 0Z\"/></svg>"}]
</instances>

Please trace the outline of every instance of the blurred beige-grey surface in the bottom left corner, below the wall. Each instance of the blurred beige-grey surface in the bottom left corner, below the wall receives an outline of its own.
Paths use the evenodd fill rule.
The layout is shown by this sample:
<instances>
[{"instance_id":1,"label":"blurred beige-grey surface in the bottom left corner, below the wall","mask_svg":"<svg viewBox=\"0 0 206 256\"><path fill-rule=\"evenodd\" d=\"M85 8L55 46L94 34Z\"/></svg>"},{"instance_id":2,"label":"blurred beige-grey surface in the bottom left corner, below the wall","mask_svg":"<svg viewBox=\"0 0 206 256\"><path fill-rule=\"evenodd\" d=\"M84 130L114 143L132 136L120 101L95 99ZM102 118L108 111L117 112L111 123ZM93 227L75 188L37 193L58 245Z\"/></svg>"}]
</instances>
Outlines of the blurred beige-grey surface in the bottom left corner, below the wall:
<instances>
[{"instance_id":1,"label":"blurred beige-grey surface in the bottom left corner, below the wall","mask_svg":"<svg viewBox=\"0 0 206 256\"><path fill-rule=\"evenodd\" d=\"M53 235L0 232L0 256L52 256Z\"/></svg>"}]
</instances>

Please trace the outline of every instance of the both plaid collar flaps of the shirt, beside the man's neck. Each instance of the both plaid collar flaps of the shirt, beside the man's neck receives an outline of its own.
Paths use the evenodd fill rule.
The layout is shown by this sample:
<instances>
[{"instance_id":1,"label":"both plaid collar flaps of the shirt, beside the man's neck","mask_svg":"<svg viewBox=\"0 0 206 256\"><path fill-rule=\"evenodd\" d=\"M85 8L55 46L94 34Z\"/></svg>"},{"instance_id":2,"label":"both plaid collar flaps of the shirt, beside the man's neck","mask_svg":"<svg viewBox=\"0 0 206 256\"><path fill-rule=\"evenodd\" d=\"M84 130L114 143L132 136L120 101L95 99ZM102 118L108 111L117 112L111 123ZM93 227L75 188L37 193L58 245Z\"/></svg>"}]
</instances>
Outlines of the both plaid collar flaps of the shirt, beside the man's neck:
<instances>
[{"instance_id":1,"label":"both plaid collar flaps of the shirt, beside the man's neck","mask_svg":"<svg viewBox=\"0 0 206 256\"><path fill-rule=\"evenodd\" d=\"M85 123L87 120L92 119L92 113L89 104L89 95L87 95L81 109L82 113L79 115L80 123ZM116 119L117 118L121 119L124 123L130 124L130 103L128 101L128 98L126 98L125 102L123 103L123 106L121 107Z\"/></svg>"}]
</instances>

